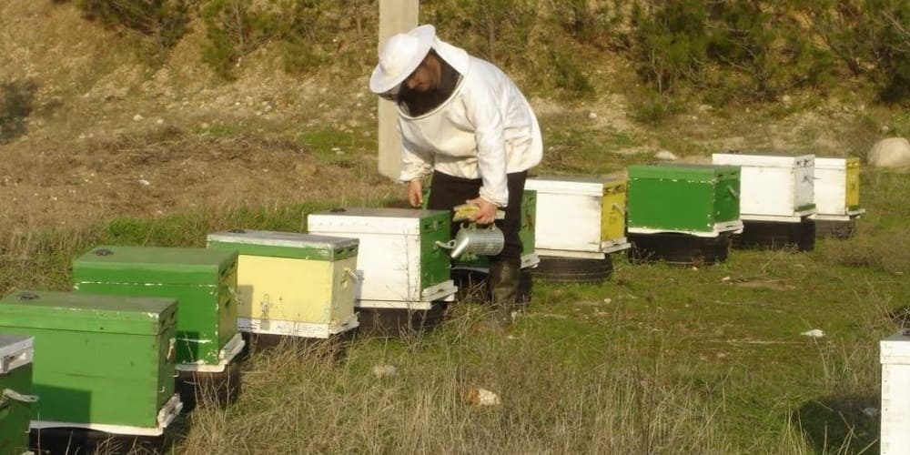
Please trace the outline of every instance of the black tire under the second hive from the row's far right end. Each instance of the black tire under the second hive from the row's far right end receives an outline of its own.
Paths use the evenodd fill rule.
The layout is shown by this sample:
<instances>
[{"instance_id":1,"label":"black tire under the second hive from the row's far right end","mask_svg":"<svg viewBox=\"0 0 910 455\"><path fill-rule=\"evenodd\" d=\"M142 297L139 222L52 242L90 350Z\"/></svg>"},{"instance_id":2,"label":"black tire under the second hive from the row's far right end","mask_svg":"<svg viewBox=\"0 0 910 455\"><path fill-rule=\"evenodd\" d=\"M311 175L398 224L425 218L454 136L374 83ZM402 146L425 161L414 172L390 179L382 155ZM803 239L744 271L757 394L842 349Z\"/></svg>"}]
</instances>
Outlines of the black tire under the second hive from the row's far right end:
<instances>
[{"instance_id":1,"label":"black tire under the second hive from the row's far right end","mask_svg":"<svg viewBox=\"0 0 910 455\"><path fill-rule=\"evenodd\" d=\"M733 236L733 248L790 249L811 251L815 248L815 222L743 221L743 233Z\"/></svg>"}]
</instances>

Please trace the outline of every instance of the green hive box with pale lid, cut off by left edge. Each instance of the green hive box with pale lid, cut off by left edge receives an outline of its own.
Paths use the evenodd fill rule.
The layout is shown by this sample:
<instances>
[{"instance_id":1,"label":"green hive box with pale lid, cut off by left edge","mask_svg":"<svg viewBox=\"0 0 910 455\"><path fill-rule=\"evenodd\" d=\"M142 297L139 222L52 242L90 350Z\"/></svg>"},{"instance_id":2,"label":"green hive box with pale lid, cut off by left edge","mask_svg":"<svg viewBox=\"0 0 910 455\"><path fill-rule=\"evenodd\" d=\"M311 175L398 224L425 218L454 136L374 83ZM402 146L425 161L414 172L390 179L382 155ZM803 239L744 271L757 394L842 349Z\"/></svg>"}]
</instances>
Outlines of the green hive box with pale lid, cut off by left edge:
<instances>
[{"instance_id":1,"label":"green hive box with pale lid, cut off by left edge","mask_svg":"<svg viewBox=\"0 0 910 455\"><path fill-rule=\"evenodd\" d=\"M0 335L0 455L28 451L34 339Z\"/></svg>"}]
</instances>

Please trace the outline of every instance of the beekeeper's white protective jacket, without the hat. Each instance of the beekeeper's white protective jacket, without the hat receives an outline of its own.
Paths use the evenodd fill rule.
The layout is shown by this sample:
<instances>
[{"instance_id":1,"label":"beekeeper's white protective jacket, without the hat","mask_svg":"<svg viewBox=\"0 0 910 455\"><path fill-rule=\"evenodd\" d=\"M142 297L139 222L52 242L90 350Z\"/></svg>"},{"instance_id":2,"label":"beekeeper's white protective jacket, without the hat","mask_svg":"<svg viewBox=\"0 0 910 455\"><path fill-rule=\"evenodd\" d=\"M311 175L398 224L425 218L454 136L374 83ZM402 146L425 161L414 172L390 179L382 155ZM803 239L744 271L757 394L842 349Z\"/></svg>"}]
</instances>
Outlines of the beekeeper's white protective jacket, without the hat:
<instances>
[{"instance_id":1,"label":"beekeeper's white protective jacket, without the hat","mask_svg":"<svg viewBox=\"0 0 910 455\"><path fill-rule=\"evenodd\" d=\"M505 207L506 174L541 162L537 117L498 67L439 38L433 49L461 74L461 80L448 100L424 115L409 116L399 106L399 178L408 182L433 169L453 177L481 178L480 197Z\"/></svg>"}]
</instances>

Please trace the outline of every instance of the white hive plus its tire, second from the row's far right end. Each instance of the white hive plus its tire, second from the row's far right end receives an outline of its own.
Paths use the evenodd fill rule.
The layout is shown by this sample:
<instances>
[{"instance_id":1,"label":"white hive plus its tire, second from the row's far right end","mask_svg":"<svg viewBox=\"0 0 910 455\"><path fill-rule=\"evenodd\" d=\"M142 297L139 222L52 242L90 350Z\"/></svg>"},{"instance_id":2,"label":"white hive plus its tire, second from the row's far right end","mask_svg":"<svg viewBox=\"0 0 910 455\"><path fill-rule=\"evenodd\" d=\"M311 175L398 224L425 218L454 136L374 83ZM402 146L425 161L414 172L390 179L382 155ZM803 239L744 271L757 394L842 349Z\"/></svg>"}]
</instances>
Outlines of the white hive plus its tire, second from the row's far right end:
<instances>
[{"instance_id":1,"label":"white hive plus its tire, second from the row's far right end","mask_svg":"<svg viewBox=\"0 0 910 455\"><path fill-rule=\"evenodd\" d=\"M734 247L814 248L814 155L727 152L712 162L742 169L743 232Z\"/></svg>"}]
</instances>

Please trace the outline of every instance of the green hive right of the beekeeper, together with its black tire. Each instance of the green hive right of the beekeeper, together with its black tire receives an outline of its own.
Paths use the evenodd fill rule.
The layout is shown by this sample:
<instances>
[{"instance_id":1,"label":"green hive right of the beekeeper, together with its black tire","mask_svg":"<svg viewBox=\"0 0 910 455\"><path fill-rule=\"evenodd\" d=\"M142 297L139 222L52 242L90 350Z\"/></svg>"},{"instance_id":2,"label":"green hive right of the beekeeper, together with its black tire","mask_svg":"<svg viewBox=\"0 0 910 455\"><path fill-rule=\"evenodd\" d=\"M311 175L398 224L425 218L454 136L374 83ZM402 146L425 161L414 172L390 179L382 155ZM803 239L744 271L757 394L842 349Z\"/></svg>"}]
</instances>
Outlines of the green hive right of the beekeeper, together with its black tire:
<instances>
[{"instance_id":1,"label":"green hive right of the beekeeper, together with its black tire","mask_svg":"<svg viewBox=\"0 0 910 455\"><path fill-rule=\"evenodd\" d=\"M629 167L632 257L681 265L726 260L743 229L740 168L696 164Z\"/></svg>"}]
</instances>

